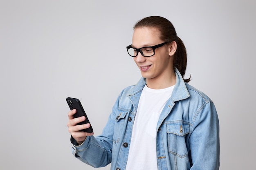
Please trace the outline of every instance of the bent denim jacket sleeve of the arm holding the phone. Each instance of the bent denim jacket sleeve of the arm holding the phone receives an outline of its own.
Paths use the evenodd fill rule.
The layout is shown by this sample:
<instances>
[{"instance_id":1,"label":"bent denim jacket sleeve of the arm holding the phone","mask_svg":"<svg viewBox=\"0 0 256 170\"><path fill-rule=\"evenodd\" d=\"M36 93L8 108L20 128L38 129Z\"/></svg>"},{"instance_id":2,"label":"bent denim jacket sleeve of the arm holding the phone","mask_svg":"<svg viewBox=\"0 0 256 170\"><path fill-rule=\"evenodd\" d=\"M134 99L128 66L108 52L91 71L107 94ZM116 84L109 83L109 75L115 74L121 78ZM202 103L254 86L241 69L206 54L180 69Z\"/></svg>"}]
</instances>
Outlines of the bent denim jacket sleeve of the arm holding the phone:
<instances>
[{"instance_id":1,"label":"bent denim jacket sleeve of the arm holding the phone","mask_svg":"<svg viewBox=\"0 0 256 170\"><path fill-rule=\"evenodd\" d=\"M120 95L119 95L120 97ZM112 113L109 116L106 126L103 128L102 134L94 137L86 137L83 144L76 146L76 141L71 137L72 153L80 161L94 167L104 167L111 163L112 160L112 143L113 143L113 128L118 108L117 99L112 108Z\"/></svg>"}]
</instances>

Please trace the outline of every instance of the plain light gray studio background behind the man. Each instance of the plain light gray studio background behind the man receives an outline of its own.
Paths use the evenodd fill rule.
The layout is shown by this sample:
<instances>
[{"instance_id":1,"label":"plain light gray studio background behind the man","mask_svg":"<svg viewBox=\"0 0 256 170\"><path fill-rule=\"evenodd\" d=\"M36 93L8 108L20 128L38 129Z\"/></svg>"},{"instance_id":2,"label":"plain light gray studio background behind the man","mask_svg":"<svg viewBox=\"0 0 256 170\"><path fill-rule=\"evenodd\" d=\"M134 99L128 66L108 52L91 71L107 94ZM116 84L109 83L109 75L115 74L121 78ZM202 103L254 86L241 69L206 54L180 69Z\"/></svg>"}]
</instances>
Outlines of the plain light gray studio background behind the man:
<instances>
[{"instance_id":1,"label":"plain light gray studio background behind the man","mask_svg":"<svg viewBox=\"0 0 256 170\"><path fill-rule=\"evenodd\" d=\"M71 153L65 99L81 100L99 135L141 77L126 46L149 15L174 24L186 77L216 104L220 170L254 169L255 9L255 0L1 0L0 169L94 169Z\"/></svg>"}]
</instances>

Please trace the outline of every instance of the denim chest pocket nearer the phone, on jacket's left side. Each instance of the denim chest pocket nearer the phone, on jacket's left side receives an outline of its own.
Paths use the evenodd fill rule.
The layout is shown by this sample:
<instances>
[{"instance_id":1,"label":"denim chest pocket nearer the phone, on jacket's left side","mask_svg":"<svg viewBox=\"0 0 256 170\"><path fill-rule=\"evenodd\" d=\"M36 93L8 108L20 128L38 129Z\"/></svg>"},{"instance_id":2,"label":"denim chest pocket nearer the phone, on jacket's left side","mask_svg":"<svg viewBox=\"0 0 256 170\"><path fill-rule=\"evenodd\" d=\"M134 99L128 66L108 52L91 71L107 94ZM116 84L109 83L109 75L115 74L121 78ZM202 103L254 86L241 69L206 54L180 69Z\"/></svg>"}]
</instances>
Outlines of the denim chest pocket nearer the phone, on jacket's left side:
<instances>
[{"instance_id":1,"label":"denim chest pocket nearer the phone, on jacket's left side","mask_svg":"<svg viewBox=\"0 0 256 170\"><path fill-rule=\"evenodd\" d=\"M120 112L119 115L115 118L115 127L114 127L114 133L113 133L113 142L114 144L117 144L121 137L124 136L127 119L126 115L128 112Z\"/></svg>"}]
</instances>

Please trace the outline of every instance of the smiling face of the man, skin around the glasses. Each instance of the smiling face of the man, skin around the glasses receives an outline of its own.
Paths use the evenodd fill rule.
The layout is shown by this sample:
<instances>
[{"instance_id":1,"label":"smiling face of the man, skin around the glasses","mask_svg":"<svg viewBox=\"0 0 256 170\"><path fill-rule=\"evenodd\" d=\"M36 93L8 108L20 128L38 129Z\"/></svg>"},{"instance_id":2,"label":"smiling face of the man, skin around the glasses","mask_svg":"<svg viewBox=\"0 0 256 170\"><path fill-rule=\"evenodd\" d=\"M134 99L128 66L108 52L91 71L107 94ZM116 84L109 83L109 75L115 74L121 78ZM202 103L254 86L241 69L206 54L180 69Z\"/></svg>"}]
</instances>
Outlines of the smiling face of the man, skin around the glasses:
<instances>
[{"instance_id":1,"label":"smiling face of the man, skin around the glasses","mask_svg":"<svg viewBox=\"0 0 256 170\"><path fill-rule=\"evenodd\" d=\"M132 36L132 47L137 49L163 42L159 38L159 31L156 28L139 27L134 30ZM139 67L142 77L146 79L164 79L164 77L170 76L171 69L173 69L168 44L155 49L155 55L151 57L144 57L138 53L134 57L134 61Z\"/></svg>"}]
</instances>

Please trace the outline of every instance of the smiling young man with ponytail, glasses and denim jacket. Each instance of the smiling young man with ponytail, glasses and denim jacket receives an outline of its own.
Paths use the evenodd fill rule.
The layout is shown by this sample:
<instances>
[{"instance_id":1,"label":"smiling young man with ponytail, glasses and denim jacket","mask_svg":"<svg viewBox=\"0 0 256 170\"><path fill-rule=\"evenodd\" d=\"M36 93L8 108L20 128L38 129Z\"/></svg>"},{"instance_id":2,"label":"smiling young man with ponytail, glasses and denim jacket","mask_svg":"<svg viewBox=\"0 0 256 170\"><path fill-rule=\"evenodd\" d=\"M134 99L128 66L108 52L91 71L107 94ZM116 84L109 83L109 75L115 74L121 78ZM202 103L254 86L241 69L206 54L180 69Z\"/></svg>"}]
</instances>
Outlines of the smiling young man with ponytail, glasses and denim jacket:
<instances>
[{"instance_id":1,"label":"smiling young man with ponytail, glasses and denim jacket","mask_svg":"<svg viewBox=\"0 0 256 170\"><path fill-rule=\"evenodd\" d=\"M120 93L102 134L81 131L85 117L68 113L75 157L111 170L218 170L216 108L184 79L186 49L171 22L140 20L127 51L142 78Z\"/></svg>"}]
</instances>

